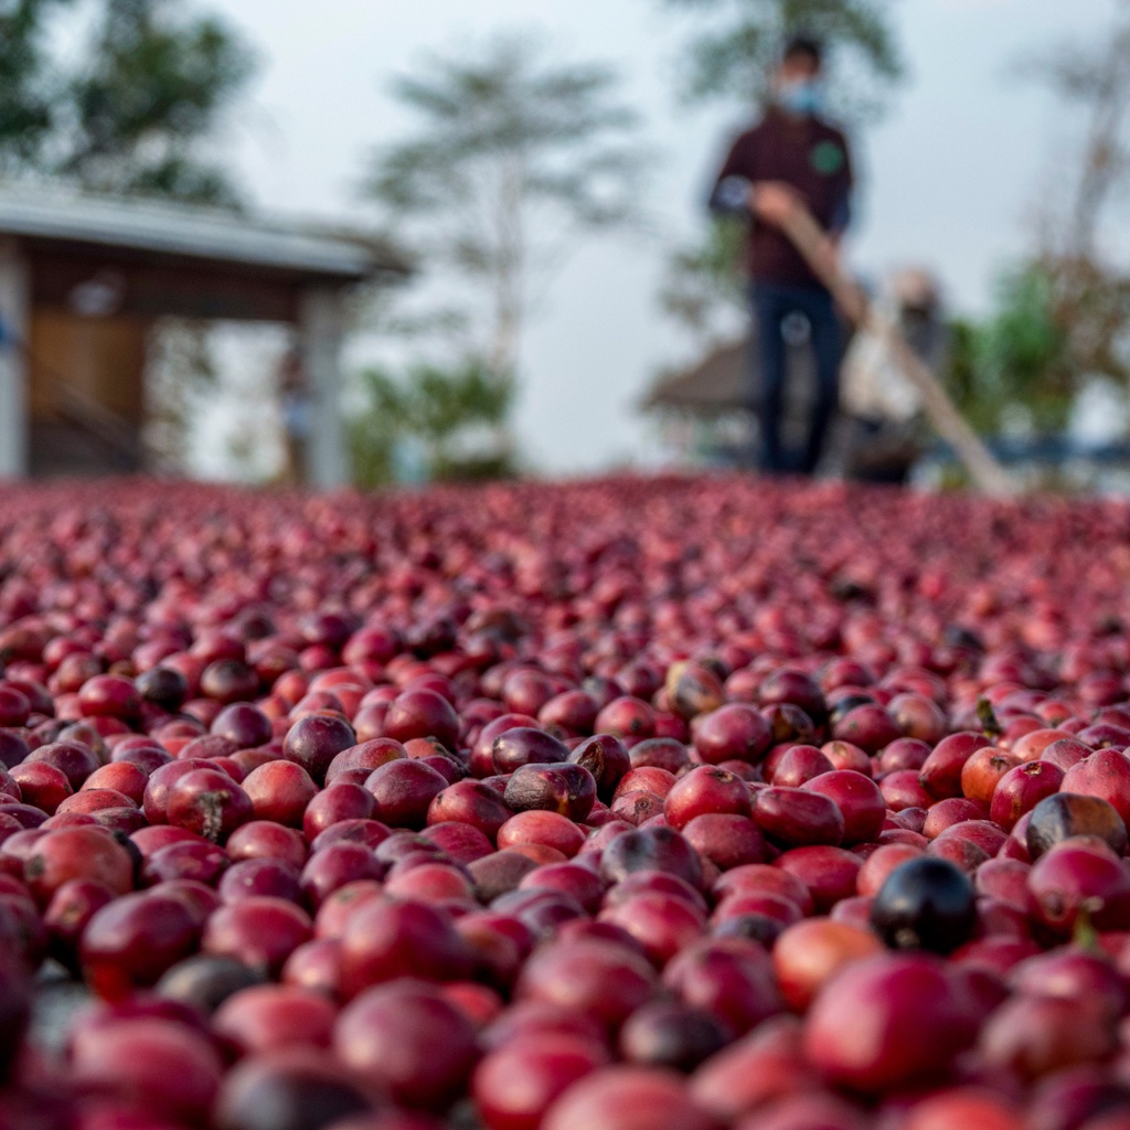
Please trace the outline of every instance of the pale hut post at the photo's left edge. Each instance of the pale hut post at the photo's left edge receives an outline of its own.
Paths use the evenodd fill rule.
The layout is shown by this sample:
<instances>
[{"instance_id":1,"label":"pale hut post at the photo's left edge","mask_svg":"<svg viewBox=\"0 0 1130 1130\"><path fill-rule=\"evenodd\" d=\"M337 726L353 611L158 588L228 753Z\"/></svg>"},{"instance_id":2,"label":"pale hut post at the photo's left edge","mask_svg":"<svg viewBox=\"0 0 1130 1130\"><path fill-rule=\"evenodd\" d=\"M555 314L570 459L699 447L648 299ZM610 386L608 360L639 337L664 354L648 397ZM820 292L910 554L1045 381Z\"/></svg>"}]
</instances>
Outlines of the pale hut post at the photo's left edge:
<instances>
[{"instance_id":1,"label":"pale hut post at the photo's left edge","mask_svg":"<svg viewBox=\"0 0 1130 1130\"><path fill-rule=\"evenodd\" d=\"M28 473L29 272L15 240L0 240L0 478Z\"/></svg>"}]
</instances>

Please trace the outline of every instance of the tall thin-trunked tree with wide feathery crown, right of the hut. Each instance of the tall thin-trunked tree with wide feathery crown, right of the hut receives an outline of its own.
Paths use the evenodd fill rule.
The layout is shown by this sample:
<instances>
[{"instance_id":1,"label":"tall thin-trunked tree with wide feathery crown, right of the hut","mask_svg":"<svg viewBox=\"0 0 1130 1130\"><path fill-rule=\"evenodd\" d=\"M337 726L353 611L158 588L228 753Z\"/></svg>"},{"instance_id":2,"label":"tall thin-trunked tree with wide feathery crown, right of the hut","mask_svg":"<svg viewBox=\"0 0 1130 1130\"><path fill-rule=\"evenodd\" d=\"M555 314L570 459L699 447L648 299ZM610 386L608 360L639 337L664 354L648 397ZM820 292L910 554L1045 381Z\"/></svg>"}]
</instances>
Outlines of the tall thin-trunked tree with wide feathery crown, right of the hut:
<instances>
[{"instance_id":1,"label":"tall thin-trunked tree with wide feathery crown, right of the hut","mask_svg":"<svg viewBox=\"0 0 1130 1130\"><path fill-rule=\"evenodd\" d=\"M424 60L393 87L417 124L376 155L367 183L436 273L469 284L467 349L499 381L515 376L527 316L581 237L640 214L637 119L615 72L544 56L502 35L469 58Z\"/></svg>"}]
</instances>

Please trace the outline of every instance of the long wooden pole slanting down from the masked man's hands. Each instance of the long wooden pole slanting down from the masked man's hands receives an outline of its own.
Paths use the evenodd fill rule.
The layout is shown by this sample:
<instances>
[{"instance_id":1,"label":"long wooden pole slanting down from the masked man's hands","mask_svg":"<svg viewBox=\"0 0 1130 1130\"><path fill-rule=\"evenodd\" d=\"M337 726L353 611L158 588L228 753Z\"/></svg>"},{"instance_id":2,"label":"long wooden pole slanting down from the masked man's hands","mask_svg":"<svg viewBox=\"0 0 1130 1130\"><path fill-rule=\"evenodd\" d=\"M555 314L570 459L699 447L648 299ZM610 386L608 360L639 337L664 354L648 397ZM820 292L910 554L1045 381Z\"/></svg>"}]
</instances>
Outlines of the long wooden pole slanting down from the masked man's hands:
<instances>
[{"instance_id":1,"label":"long wooden pole slanting down from the masked man's hands","mask_svg":"<svg viewBox=\"0 0 1130 1130\"><path fill-rule=\"evenodd\" d=\"M898 327L869 302L867 295L840 269L835 249L812 214L799 206L792 209L781 226L832 292L841 310L858 327L875 333L886 345L906 380L922 397L922 407L938 434L954 449L977 487L986 494L1016 494L1016 481L954 407L946 390L911 349Z\"/></svg>"}]
</instances>

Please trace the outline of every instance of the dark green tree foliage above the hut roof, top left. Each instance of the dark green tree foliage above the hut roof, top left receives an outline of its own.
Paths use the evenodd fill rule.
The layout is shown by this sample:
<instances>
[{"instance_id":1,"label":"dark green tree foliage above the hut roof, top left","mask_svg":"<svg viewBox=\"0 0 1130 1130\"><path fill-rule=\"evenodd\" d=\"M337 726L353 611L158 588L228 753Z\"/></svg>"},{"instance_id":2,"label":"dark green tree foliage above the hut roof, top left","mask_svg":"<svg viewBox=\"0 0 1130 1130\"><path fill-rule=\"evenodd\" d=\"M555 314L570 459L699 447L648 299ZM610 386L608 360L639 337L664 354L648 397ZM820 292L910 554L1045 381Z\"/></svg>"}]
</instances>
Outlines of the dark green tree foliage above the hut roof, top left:
<instances>
[{"instance_id":1,"label":"dark green tree foliage above the hut roof, top left","mask_svg":"<svg viewBox=\"0 0 1130 1130\"><path fill-rule=\"evenodd\" d=\"M219 20L177 0L99 0L71 71L49 49L70 0L0 0L0 171L84 189L234 207L201 155L252 70Z\"/></svg>"}]
</instances>

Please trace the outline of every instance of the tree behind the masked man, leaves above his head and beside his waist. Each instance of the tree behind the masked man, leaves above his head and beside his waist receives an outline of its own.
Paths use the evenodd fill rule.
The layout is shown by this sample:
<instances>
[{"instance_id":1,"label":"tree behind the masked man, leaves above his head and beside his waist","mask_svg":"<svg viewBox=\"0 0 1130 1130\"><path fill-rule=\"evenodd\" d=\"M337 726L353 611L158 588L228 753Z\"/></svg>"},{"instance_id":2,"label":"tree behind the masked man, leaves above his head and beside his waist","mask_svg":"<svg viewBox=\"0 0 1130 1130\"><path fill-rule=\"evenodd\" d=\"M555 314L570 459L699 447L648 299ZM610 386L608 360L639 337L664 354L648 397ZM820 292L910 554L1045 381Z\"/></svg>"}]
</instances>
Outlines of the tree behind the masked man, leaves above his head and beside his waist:
<instances>
[{"instance_id":1,"label":"tree behind the masked man, leaves above his head and beside his waist","mask_svg":"<svg viewBox=\"0 0 1130 1130\"><path fill-rule=\"evenodd\" d=\"M834 61L833 102L867 121L902 75L890 24L892 0L660 0L695 16L684 97L723 98L744 108L764 105L773 68L790 35L822 38ZM702 28L706 27L705 31ZM660 302L709 350L747 316L741 285L745 225L707 218L697 242L671 255Z\"/></svg>"}]
</instances>

